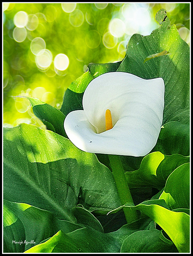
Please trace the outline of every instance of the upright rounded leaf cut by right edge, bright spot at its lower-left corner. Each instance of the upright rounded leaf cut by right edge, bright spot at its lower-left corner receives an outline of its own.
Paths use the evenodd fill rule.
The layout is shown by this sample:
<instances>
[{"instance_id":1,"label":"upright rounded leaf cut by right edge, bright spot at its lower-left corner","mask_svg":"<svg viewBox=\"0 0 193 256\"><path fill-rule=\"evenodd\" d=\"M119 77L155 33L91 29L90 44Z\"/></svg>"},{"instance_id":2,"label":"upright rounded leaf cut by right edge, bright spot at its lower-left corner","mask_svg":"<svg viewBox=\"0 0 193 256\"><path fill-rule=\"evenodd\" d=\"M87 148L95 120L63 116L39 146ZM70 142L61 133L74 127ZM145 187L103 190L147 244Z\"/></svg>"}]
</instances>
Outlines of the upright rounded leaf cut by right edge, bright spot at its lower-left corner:
<instances>
[{"instance_id":1,"label":"upright rounded leaf cut by right edge, bright spot at its lower-left corner","mask_svg":"<svg viewBox=\"0 0 193 256\"><path fill-rule=\"evenodd\" d=\"M190 164L182 164L168 177L159 199L164 199L171 210L190 208Z\"/></svg>"}]
</instances>

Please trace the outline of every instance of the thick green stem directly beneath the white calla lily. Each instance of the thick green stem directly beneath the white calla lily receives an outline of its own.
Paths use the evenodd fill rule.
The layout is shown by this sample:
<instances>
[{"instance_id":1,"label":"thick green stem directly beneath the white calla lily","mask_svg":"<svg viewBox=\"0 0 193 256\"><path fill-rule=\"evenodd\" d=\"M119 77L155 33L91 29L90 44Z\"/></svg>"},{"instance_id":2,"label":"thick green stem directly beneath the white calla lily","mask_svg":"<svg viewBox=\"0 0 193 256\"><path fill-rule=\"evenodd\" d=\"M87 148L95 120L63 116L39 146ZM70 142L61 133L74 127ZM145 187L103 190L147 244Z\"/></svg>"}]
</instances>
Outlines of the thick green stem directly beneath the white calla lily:
<instances>
[{"instance_id":1,"label":"thick green stem directly beneath the white calla lily","mask_svg":"<svg viewBox=\"0 0 193 256\"><path fill-rule=\"evenodd\" d=\"M134 206L133 199L131 197L129 187L127 185L127 180L119 156L108 156L121 204L124 205L125 203L128 202L129 204ZM125 214L127 223L133 222L138 219L137 211L135 210L135 208L123 207L123 212Z\"/></svg>"}]
</instances>

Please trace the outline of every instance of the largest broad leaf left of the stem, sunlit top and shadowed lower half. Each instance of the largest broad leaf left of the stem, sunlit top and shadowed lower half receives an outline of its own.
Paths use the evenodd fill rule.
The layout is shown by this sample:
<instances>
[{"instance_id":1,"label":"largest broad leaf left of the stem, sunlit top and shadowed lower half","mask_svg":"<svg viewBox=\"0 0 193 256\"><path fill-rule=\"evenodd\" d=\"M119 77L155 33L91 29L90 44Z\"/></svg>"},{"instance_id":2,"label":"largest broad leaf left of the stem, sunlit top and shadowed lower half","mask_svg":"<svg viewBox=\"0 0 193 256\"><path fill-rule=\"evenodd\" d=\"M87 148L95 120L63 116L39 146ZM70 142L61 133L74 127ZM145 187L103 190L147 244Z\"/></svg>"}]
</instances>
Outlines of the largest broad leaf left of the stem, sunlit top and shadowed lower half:
<instances>
[{"instance_id":1,"label":"largest broad leaf left of the stem, sunlit top and shadowed lower half","mask_svg":"<svg viewBox=\"0 0 193 256\"><path fill-rule=\"evenodd\" d=\"M4 198L72 222L78 203L98 211L120 205L113 176L95 154L29 124L4 129Z\"/></svg>"}]
</instances>

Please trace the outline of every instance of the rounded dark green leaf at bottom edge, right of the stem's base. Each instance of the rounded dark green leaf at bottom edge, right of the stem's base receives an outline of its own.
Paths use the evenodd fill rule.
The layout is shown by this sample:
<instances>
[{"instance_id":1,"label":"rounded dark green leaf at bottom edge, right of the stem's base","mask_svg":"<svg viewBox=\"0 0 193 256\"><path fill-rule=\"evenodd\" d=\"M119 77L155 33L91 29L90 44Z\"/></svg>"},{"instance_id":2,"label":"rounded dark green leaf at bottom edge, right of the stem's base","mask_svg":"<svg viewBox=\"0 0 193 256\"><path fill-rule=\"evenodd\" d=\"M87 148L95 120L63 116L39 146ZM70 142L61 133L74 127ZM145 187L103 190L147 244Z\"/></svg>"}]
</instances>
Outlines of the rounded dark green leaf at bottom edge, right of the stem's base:
<instances>
[{"instance_id":1,"label":"rounded dark green leaf at bottom edge, right of the stem's base","mask_svg":"<svg viewBox=\"0 0 193 256\"><path fill-rule=\"evenodd\" d=\"M122 246L122 253L178 252L173 242L164 238L157 229L139 230L128 236Z\"/></svg>"}]
</instances>

